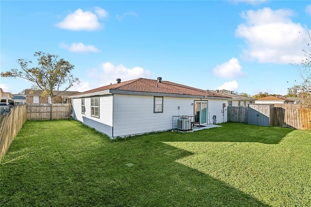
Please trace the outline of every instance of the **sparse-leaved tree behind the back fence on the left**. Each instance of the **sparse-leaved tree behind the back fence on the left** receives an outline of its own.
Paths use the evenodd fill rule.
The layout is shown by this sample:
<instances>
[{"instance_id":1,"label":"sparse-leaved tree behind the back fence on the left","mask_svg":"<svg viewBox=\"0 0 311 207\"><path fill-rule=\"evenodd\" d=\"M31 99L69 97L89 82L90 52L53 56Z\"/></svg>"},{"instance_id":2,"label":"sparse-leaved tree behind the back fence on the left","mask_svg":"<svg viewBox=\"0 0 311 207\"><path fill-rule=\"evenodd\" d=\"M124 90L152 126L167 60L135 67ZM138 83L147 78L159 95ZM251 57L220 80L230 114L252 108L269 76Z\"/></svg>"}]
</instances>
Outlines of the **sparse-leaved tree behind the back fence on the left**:
<instances>
[{"instance_id":1,"label":"sparse-leaved tree behind the back fence on the left","mask_svg":"<svg viewBox=\"0 0 311 207\"><path fill-rule=\"evenodd\" d=\"M58 55L44 52L35 52L38 67L30 68L30 60L18 59L17 63L20 69L11 69L10 71L1 72L1 77L12 77L26 79L33 84L32 90L43 90L42 96L54 96L68 90L74 83L80 83L78 78L74 78L71 71L74 66L63 58L59 59ZM61 86L65 86L63 90ZM53 94L53 90L57 91Z\"/></svg>"}]
</instances>

